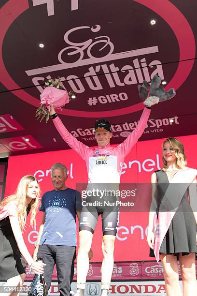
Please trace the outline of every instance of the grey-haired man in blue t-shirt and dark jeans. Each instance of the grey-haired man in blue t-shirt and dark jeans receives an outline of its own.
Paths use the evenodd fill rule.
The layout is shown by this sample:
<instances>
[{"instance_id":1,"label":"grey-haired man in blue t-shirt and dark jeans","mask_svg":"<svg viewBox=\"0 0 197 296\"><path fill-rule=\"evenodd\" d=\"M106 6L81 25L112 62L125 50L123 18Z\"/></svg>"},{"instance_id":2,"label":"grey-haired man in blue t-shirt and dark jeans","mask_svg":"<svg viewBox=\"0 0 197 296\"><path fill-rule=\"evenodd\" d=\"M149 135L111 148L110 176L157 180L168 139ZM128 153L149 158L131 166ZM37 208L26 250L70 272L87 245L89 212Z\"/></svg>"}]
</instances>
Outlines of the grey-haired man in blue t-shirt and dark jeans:
<instances>
[{"instance_id":1,"label":"grey-haired man in blue t-shirt and dark jeans","mask_svg":"<svg viewBox=\"0 0 197 296\"><path fill-rule=\"evenodd\" d=\"M49 290L56 264L60 296L70 296L70 283L76 258L76 215L80 218L82 199L78 191L66 187L67 167L55 163L51 167L54 190L42 196L40 211L43 212L37 243L33 254L42 257L46 264L44 279Z\"/></svg>"}]
</instances>

